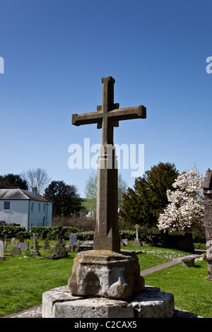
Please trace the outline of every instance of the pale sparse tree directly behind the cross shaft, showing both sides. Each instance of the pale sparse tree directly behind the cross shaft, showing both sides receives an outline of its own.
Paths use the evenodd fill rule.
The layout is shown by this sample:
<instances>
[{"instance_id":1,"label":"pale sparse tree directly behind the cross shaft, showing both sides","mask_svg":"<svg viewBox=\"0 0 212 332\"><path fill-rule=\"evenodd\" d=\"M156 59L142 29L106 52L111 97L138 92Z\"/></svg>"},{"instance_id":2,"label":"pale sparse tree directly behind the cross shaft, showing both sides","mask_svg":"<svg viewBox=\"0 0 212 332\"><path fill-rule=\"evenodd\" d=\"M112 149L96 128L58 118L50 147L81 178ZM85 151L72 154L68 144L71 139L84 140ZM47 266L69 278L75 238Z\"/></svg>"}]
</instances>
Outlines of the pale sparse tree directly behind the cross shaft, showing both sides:
<instances>
[{"instance_id":1,"label":"pale sparse tree directly behind the cross shaft, showing both sides","mask_svg":"<svg viewBox=\"0 0 212 332\"><path fill-rule=\"evenodd\" d=\"M122 178L122 174L118 175L118 206L122 205L123 194L126 192L127 184ZM93 171L86 182L85 195L88 203L88 210L91 215L96 213L96 200L97 200L97 173Z\"/></svg>"}]
</instances>

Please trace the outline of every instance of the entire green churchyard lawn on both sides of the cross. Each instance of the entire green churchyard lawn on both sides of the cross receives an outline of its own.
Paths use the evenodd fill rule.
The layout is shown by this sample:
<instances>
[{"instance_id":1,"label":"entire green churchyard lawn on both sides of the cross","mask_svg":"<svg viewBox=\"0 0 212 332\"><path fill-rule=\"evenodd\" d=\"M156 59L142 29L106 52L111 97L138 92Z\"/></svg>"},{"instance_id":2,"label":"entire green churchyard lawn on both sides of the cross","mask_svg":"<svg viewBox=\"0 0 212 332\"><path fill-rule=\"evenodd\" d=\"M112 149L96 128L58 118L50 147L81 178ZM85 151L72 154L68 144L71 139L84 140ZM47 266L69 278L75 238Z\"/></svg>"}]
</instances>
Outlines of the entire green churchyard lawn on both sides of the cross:
<instances>
[{"instance_id":1,"label":"entire green churchyard lawn on both sides of the cross","mask_svg":"<svg viewBox=\"0 0 212 332\"><path fill-rule=\"evenodd\" d=\"M28 241L32 247L32 240ZM71 252L67 258L59 260L44 259L44 256L51 256L52 251L43 250L44 242L41 240L39 245L42 246L40 257L31 257L30 251L23 251L20 256L6 256L5 261L0 262L0 316L40 304L43 292L67 285L76 254ZM12 247L8 244L5 254L9 254ZM138 254L141 270L190 254L160 247L133 247L130 241L129 246L123 249L141 250ZM183 268L179 263L144 278L146 285L171 292L175 297L175 307L211 318L212 283L206 280L206 275L206 261L195 261L194 268Z\"/></svg>"}]
</instances>

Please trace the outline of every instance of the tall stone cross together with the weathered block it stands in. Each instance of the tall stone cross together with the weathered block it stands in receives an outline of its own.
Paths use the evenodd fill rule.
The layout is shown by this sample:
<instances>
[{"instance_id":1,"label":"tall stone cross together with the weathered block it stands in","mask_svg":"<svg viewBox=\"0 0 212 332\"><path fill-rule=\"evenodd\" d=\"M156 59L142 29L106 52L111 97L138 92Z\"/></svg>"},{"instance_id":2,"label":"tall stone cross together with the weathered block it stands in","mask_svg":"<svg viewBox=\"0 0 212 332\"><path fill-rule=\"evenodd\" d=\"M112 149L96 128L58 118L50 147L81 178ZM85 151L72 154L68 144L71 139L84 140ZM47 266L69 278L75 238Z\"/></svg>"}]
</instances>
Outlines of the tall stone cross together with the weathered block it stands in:
<instances>
[{"instance_id":1,"label":"tall stone cross together with the weathered block it stands in","mask_svg":"<svg viewBox=\"0 0 212 332\"><path fill-rule=\"evenodd\" d=\"M146 119L146 107L119 109L119 104L114 104L114 78L111 76L102 78L102 106L97 107L97 112L72 115L75 126L97 123L98 129L102 129L93 251L76 255L69 279L72 295L126 298L144 288L136 254L120 251L113 128L119 126L119 120L126 119Z\"/></svg>"}]
</instances>

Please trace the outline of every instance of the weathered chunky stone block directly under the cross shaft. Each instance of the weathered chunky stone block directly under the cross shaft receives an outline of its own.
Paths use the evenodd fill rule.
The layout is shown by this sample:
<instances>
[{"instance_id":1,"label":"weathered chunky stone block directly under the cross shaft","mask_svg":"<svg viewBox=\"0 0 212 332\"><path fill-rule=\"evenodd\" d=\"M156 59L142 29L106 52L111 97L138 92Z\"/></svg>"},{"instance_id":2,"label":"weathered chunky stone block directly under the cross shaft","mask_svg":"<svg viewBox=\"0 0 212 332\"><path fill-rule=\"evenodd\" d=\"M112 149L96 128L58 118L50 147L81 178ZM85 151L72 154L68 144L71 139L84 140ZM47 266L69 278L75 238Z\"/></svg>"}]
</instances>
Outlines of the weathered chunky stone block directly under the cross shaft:
<instances>
[{"instance_id":1,"label":"weathered chunky stone block directly under the cross shaft","mask_svg":"<svg viewBox=\"0 0 212 332\"><path fill-rule=\"evenodd\" d=\"M88 250L74 259L69 279L72 295L124 299L143 288L144 279L134 252Z\"/></svg>"}]
</instances>

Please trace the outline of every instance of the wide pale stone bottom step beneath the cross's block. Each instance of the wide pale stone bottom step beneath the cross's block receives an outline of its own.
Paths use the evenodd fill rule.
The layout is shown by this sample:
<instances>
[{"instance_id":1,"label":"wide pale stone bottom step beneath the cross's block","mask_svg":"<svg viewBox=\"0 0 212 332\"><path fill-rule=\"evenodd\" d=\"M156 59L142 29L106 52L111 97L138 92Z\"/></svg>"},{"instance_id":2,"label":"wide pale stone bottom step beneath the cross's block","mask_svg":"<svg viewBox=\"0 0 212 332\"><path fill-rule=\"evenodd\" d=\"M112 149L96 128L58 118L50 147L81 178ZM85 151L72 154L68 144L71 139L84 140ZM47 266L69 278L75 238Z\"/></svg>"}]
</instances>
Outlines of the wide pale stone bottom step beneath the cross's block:
<instances>
[{"instance_id":1,"label":"wide pale stone bottom step beneath the cross's block","mask_svg":"<svg viewBox=\"0 0 212 332\"><path fill-rule=\"evenodd\" d=\"M43 318L172 318L174 297L160 288L146 286L124 300L71 295L68 286L42 295Z\"/></svg>"}]
</instances>

